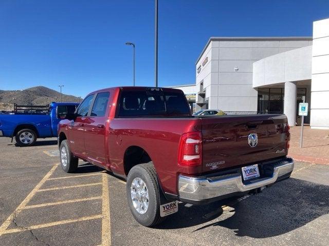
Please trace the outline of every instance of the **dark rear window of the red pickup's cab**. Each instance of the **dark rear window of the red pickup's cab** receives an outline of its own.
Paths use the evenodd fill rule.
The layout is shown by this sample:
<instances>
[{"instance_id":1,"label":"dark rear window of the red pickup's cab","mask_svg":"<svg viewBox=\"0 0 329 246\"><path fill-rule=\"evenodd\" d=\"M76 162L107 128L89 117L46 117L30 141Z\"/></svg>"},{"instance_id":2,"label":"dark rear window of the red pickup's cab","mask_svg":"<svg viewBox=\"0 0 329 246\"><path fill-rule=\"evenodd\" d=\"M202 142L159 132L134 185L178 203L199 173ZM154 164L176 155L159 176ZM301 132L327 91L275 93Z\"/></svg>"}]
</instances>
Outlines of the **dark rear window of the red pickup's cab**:
<instances>
[{"instance_id":1,"label":"dark rear window of the red pickup's cab","mask_svg":"<svg viewBox=\"0 0 329 246\"><path fill-rule=\"evenodd\" d=\"M190 107L180 92L122 91L118 116L189 116Z\"/></svg>"}]
</instances>

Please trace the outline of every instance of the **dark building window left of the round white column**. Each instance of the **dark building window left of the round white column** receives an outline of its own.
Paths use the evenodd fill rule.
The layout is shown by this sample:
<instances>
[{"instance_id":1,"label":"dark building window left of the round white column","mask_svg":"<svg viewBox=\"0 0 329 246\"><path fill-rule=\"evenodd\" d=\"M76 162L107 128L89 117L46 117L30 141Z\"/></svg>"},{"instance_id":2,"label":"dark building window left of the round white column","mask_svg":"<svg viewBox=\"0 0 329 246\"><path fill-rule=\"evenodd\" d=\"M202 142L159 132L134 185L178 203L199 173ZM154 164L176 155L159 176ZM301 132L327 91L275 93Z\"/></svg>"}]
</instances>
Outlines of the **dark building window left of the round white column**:
<instances>
[{"instance_id":1,"label":"dark building window left of the round white column","mask_svg":"<svg viewBox=\"0 0 329 246\"><path fill-rule=\"evenodd\" d=\"M284 88L258 88L259 114L282 114Z\"/></svg>"}]
</instances>

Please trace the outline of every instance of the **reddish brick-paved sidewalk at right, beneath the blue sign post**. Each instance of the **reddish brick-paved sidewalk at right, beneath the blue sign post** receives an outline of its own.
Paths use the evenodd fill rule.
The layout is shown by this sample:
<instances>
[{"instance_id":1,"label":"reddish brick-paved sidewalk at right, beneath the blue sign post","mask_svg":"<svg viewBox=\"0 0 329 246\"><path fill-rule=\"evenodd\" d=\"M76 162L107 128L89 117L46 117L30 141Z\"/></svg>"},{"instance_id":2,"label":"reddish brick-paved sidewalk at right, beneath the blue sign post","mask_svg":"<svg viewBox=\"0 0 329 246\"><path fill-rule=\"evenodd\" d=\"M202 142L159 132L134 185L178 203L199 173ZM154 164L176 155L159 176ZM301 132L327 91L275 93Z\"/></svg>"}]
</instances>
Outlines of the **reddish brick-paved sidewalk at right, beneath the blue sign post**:
<instances>
[{"instance_id":1,"label":"reddish brick-paved sidewalk at right, beneath the blue sign post","mask_svg":"<svg viewBox=\"0 0 329 246\"><path fill-rule=\"evenodd\" d=\"M295 160L329 164L329 130L304 127L303 148L299 148L301 127L291 127L288 156Z\"/></svg>"}]
</instances>

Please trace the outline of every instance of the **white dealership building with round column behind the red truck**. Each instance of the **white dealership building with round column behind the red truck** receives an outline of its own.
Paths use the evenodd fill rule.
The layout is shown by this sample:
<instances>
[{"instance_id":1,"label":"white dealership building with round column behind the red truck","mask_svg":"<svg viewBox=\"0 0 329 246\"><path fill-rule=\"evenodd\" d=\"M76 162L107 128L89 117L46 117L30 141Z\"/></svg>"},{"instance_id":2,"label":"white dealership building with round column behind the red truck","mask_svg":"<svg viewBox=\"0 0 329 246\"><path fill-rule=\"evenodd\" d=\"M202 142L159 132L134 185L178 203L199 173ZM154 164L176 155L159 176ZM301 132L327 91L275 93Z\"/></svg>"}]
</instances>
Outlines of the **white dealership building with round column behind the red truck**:
<instances>
[{"instance_id":1,"label":"white dealership building with round column behind the red truck","mask_svg":"<svg viewBox=\"0 0 329 246\"><path fill-rule=\"evenodd\" d=\"M295 126L305 100L305 122L329 129L329 19L313 23L313 37L211 37L195 70L195 85L179 88L195 90L196 110L285 113Z\"/></svg>"}]
</instances>

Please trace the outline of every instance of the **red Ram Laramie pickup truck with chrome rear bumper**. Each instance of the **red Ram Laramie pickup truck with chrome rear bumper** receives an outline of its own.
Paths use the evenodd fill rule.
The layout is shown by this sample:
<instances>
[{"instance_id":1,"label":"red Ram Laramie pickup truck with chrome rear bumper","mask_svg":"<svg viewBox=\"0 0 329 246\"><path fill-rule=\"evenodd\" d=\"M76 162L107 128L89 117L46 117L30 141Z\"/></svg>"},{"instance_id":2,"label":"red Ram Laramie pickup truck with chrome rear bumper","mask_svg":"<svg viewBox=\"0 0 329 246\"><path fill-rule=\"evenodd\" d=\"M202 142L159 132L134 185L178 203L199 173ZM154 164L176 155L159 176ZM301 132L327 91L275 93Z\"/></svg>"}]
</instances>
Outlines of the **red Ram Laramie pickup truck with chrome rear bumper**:
<instances>
[{"instance_id":1,"label":"red Ram Laramie pickup truck with chrome rear bumper","mask_svg":"<svg viewBox=\"0 0 329 246\"><path fill-rule=\"evenodd\" d=\"M193 116L181 90L116 87L86 96L60 121L61 166L83 159L126 179L131 212L151 227L178 211L257 192L288 178L284 114Z\"/></svg>"}]
</instances>

